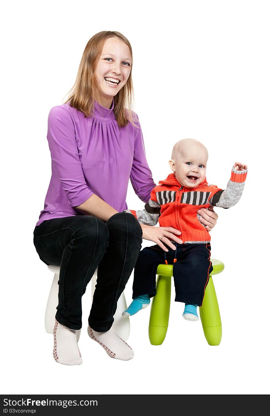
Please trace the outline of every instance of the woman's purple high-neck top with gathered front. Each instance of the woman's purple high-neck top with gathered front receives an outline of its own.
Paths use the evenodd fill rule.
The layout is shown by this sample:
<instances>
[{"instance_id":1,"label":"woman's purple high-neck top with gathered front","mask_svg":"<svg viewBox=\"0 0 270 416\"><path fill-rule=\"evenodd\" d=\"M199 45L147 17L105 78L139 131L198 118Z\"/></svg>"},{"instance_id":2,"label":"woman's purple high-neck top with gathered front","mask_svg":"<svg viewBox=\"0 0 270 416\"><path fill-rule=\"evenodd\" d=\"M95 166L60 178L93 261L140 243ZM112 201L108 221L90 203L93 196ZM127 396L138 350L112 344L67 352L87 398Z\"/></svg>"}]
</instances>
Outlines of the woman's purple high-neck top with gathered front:
<instances>
[{"instance_id":1,"label":"woman's purple high-neck top with gathered front","mask_svg":"<svg viewBox=\"0 0 270 416\"><path fill-rule=\"evenodd\" d=\"M93 193L121 212L127 209L129 178L136 195L148 202L156 186L146 161L141 126L119 127L111 109L95 103L94 116L69 103L52 107L47 139L52 177L36 225L52 218L82 215L74 207Z\"/></svg>"}]
</instances>

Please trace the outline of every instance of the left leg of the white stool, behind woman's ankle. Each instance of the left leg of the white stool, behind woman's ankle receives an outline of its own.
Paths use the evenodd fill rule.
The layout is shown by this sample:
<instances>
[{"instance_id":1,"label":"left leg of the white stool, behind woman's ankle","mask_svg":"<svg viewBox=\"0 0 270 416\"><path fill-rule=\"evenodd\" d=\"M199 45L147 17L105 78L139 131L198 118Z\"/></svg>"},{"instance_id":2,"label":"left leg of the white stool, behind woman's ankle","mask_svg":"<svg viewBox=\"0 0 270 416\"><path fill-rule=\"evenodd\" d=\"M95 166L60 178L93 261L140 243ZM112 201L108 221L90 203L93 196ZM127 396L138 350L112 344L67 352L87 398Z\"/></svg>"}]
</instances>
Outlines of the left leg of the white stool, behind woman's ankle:
<instances>
[{"instance_id":1,"label":"left leg of the white stool, behind woman's ankle","mask_svg":"<svg viewBox=\"0 0 270 416\"><path fill-rule=\"evenodd\" d=\"M53 334L54 324L55 324L55 314L57 312L58 305L58 280L59 274L55 273L52 280L52 285L47 300L47 306L45 311L45 329L48 334ZM76 331L77 342L81 334L81 329Z\"/></svg>"}]
</instances>

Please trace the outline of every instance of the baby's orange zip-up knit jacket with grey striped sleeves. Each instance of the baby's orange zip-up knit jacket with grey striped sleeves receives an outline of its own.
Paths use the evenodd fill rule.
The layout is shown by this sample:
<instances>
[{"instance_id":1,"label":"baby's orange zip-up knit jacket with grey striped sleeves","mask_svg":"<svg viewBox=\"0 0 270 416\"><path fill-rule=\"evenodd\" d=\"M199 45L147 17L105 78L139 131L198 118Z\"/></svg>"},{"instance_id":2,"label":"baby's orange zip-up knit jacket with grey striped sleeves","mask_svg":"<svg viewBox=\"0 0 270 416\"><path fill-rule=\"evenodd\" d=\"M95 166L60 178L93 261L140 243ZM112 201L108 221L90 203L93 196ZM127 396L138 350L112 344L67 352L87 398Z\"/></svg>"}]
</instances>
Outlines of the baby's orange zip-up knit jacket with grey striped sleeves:
<instances>
[{"instance_id":1,"label":"baby's orange zip-up knit jacket with grey striped sleeves","mask_svg":"<svg viewBox=\"0 0 270 416\"><path fill-rule=\"evenodd\" d=\"M159 181L151 191L150 200L144 210L126 210L133 214L139 223L161 227L173 227L181 231L183 243L208 243L211 236L199 221L200 208L217 206L230 208L240 199L248 170L231 171L227 188L221 189L204 181L196 188L185 188L171 173L164 181Z\"/></svg>"}]
</instances>

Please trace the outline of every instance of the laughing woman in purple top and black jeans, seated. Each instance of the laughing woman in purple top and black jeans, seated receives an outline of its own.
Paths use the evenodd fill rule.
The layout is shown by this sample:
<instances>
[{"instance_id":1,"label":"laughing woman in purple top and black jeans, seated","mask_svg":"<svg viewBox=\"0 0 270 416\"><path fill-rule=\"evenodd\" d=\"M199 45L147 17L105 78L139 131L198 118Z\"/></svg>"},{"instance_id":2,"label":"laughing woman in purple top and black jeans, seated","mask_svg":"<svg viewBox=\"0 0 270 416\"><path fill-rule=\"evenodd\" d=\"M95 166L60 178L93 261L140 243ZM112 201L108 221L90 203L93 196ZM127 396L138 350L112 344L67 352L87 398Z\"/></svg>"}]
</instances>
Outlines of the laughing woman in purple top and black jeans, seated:
<instances>
[{"instance_id":1,"label":"laughing woman in purple top and black jeans, seated","mask_svg":"<svg viewBox=\"0 0 270 416\"><path fill-rule=\"evenodd\" d=\"M82 327L82 295L97 266L88 334L110 357L131 359L134 352L111 325L142 238L163 250L163 243L173 248L170 240L182 242L174 235L178 230L140 225L123 212L129 178L145 203L155 186L139 120L131 111L131 66L126 37L97 33L84 49L68 100L48 117L52 178L34 245L45 264L60 265L53 352L60 364L82 363L76 330ZM202 214L211 230L216 213Z\"/></svg>"}]
</instances>

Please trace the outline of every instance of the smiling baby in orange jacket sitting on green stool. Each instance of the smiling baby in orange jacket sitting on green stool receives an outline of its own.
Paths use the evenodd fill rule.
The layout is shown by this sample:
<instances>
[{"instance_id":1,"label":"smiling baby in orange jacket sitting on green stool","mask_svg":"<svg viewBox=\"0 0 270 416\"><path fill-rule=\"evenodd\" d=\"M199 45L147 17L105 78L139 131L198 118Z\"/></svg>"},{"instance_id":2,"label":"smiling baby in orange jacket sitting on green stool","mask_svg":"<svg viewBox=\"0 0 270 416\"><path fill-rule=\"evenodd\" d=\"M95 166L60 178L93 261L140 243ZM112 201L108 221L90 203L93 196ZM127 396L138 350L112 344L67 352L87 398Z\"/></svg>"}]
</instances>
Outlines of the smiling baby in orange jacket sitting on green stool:
<instances>
[{"instance_id":1,"label":"smiling baby in orange jacket sitting on green stool","mask_svg":"<svg viewBox=\"0 0 270 416\"><path fill-rule=\"evenodd\" d=\"M147 307L156 295L156 270L160 263L173 264L176 302L185 303L183 317L198 320L197 306L203 303L204 292L213 271L210 234L197 214L199 208L217 206L230 208L240 199L248 166L235 162L227 188L209 185L206 181L208 151L195 139L183 139L173 146L169 166L173 173L151 191L144 210L126 210L141 224L173 227L181 231L183 244L176 250L159 245L140 251L134 268L131 305L123 315L134 315ZM162 240L163 237L161 237Z\"/></svg>"}]
</instances>

